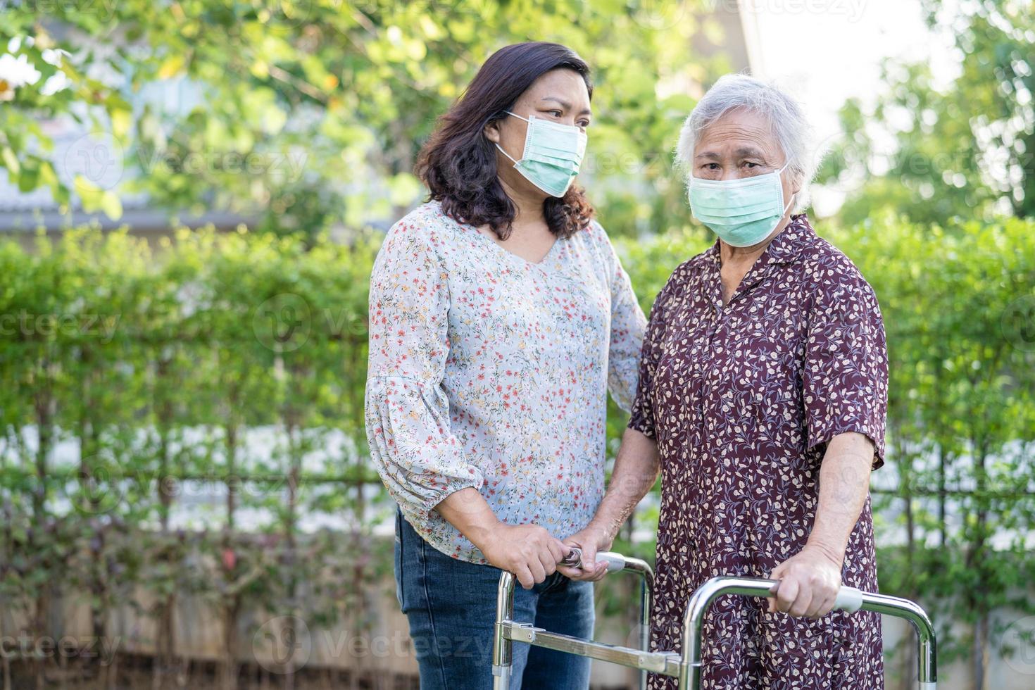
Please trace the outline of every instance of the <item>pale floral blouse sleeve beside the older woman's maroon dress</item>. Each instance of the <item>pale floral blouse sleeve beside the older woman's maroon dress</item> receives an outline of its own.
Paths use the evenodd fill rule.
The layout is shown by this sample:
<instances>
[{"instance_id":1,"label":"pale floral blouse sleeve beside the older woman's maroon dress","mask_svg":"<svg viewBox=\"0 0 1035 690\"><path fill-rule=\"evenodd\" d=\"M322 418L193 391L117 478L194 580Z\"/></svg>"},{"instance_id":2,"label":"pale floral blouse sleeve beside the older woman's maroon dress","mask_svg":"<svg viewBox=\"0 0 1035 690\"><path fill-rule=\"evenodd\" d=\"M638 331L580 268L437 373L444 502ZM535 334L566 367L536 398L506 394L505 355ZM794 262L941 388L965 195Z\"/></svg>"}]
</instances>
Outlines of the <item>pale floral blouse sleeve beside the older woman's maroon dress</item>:
<instances>
[{"instance_id":1,"label":"pale floral blouse sleeve beside the older woman's maroon dress","mask_svg":"<svg viewBox=\"0 0 1035 690\"><path fill-rule=\"evenodd\" d=\"M629 412L637 392L640 349L647 318L632 292L629 274L622 268L614 245L599 224L598 233L611 287L611 343L608 352L608 390L618 407Z\"/></svg>"}]
</instances>

